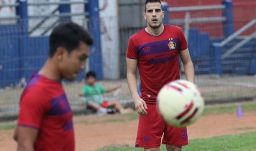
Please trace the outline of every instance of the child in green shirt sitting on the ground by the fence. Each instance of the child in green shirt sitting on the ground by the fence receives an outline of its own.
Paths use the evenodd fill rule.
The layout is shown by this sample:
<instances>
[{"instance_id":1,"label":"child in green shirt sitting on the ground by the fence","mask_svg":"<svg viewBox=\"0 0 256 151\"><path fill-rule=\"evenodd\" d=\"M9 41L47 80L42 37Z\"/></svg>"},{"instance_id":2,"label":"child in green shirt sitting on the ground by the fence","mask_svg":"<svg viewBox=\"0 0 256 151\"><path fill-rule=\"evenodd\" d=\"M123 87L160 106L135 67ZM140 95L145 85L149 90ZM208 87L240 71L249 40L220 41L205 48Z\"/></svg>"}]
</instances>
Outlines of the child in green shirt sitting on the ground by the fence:
<instances>
[{"instance_id":1,"label":"child in green shirt sitting on the ground by the fence","mask_svg":"<svg viewBox=\"0 0 256 151\"><path fill-rule=\"evenodd\" d=\"M81 90L79 96L86 97L86 104L89 108L94 109L97 114L102 115L108 112L108 107L113 107L117 112L121 114L132 113L132 108L124 109L121 104L117 101L104 101L102 95L108 92L115 91L121 88L121 84L112 89L105 89L104 87L96 84L96 73L89 71L85 77L87 85Z\"/></svg>"}]
</instances>

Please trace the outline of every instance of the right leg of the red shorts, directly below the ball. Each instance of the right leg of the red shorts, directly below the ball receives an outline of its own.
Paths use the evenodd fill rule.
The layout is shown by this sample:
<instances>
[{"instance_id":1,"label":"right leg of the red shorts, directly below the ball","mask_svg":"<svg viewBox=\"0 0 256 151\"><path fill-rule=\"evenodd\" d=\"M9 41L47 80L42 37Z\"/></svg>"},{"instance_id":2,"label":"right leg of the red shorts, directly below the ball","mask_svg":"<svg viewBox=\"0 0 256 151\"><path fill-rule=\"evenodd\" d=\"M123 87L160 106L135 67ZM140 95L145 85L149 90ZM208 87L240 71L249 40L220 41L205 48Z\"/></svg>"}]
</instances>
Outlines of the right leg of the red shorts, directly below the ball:
<instances>
[{"instance_id":1,"label":"right leg of the red shorts, directly below the ball","mask_svg":"<svg viewBox=\"0 0 256 151\"><path fill-rule=\"evenodd\" d=\"M187 127L173 127L166 125L163 144L172 146L186 146L188 144Z\"/></svg>"}]
</instances>

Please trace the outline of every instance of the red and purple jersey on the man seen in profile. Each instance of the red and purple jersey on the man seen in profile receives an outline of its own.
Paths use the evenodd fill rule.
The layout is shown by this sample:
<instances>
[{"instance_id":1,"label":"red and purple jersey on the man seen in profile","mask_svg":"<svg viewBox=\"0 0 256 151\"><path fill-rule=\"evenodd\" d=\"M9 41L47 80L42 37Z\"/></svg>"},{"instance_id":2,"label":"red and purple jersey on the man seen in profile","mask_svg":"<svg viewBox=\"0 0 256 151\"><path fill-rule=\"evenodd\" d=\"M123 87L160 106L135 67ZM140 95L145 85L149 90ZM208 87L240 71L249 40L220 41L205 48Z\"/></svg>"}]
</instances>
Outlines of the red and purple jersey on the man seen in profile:
<instances>
[{"instance_id":1,"label":"red and purple jersey on the man seen in profile","mask_svg":"<svg viewBox=\"0 0 256 151\"><path fill-rule=\"evenodd\" d=\"M35 73L21 95L18 121L39 130L35 150L75 150L72 116L61 83Z\"/></svg>"}]
</instances>

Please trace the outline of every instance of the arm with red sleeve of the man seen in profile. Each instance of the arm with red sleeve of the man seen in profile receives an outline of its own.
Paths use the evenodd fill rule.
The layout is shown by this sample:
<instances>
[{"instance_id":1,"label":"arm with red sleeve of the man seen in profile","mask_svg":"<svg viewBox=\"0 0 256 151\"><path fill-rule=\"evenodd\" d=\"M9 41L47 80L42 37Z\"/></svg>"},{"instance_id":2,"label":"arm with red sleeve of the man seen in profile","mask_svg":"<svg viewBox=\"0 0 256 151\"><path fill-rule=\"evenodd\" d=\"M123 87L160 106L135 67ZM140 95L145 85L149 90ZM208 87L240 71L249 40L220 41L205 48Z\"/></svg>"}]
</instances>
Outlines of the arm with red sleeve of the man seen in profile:
<instances>
[{"instance_id":1,"label":"arm with red sleeve of the man seen in profile","mask_svg":"<svg viewBox=\"0 0 256 151\"><path fill-rule=\"evenodd\" d=\"M27 89L21 96L20 112L17 129L14 137L18 139L18 150L34 150L43 116L50 110L46 92L39 86Z\"/></svg>"}]
</instances>

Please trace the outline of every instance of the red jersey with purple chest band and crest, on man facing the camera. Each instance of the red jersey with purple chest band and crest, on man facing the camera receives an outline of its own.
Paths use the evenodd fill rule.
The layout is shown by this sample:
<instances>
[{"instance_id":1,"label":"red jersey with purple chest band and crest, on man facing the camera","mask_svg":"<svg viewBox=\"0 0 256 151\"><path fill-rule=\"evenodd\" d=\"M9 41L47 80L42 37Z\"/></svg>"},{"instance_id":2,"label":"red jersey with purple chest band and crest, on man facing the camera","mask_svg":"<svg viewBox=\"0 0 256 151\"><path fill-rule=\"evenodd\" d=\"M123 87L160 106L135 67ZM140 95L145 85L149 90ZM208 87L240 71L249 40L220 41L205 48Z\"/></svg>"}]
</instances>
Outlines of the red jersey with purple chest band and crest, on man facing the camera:
<instances>
[{"instance_id":1,"label":"red jersey with purple chest band and crest, on man facing the camera","mask_svg":"<svg viewBox=\"0 0 256 151\"><path fill-rule=\"evenodd\" d=\"M179 79L179 51L188 48L181 28L164 25L159 36L145 29L130 37L126 57L138 60L141 98L155 103L162 86Z\"/></svg>"}]
</instances>

